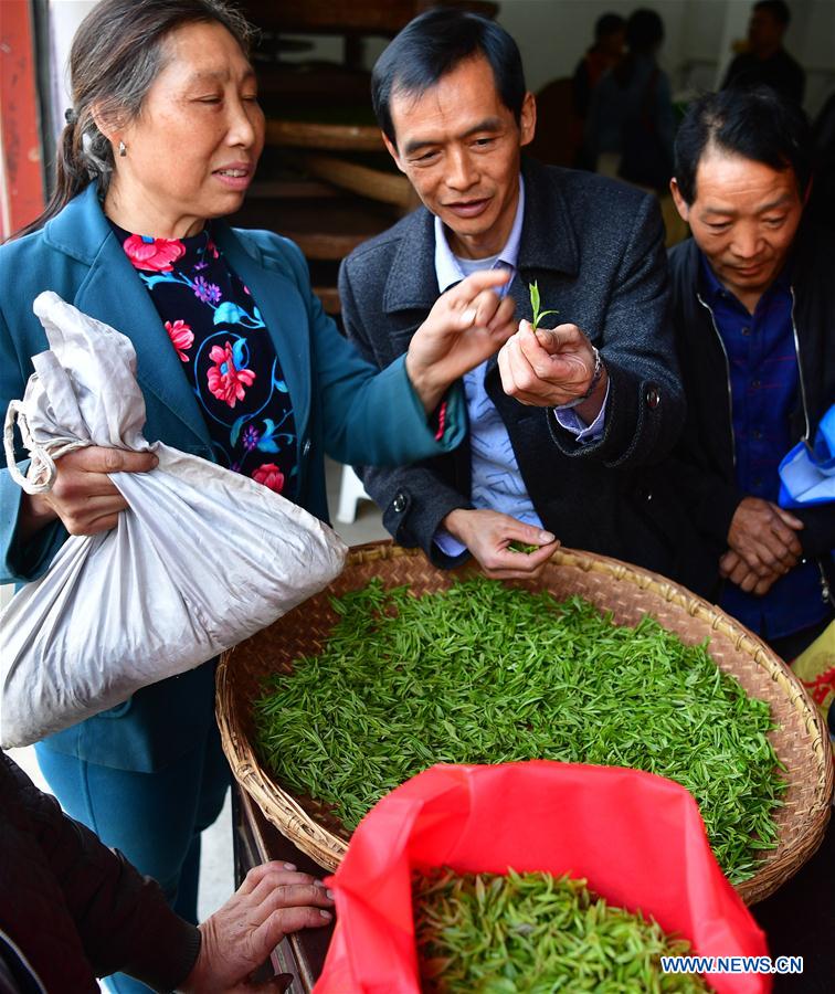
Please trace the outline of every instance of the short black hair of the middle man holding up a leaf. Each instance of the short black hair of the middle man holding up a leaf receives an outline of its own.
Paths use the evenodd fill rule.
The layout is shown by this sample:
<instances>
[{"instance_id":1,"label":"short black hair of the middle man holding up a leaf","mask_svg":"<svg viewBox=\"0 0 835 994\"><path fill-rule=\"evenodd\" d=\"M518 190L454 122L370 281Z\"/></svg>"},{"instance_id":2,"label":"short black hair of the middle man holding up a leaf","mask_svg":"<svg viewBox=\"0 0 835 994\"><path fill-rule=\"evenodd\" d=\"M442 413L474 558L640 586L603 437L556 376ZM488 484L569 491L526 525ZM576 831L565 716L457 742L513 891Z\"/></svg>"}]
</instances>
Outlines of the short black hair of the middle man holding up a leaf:
<instances>
[{"instance_id":1,"label":"short black hair of the middle man holding up a leaf","mask_svg":"<svg viewBox=\"0 0 835 994\"><path fill-rule=\"evenodd\" d=\"M421 96L459 63L479 55L493 70L501 103L519 123L527 91L516 42L487 18L434 8L410 21L374 65L371 99L377 120L392 145L397 145L391 121L392 96Z\"/></svg>"}]
</instances>

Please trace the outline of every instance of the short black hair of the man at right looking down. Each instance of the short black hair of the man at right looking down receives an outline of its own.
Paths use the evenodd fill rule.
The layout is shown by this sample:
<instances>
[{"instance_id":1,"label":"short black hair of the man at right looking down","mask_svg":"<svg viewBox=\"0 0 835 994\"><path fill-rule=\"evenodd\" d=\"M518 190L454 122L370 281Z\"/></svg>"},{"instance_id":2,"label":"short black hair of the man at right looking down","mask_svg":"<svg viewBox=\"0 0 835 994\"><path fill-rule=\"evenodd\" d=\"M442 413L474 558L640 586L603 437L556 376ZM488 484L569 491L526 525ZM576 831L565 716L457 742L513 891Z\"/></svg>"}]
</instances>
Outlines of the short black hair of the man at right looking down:
<instances>
[{"instance_id":1,"label":"short black hair of the man at right looking down","mask_svg":"<svg viewBox=\"0 0 835 994\"><path fill-rule=\"evenodd\" d=\"M801 197L812 175L812 140L803 110L770 86L708 93L687 110L675 144L675 177L685 202L696 200L696 170L708 146L794 170Z\"/></svg>"}]
</instances>

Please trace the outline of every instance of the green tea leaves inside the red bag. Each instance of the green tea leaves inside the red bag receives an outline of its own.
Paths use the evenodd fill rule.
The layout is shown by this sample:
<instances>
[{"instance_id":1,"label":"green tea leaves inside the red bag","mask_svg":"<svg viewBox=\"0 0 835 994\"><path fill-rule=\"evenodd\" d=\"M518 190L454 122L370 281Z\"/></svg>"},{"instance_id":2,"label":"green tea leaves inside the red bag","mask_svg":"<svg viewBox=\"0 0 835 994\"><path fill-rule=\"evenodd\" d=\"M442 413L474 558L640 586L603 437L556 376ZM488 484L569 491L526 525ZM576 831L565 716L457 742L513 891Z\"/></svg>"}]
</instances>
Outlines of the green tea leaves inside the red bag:
<instances>
[{"instance_id":1,"label":"green tea leaves inside the red bag","mask_svg":"<svg viewBox=\"0 0 835 994\"><path fill-rule=\"evenodd\" d=\"M421 986L427 994L701 992L696 974L665 974L689 943L611 908L585 880L550 874L438 869L412 885Z\"/></svg>"}]
</instances>

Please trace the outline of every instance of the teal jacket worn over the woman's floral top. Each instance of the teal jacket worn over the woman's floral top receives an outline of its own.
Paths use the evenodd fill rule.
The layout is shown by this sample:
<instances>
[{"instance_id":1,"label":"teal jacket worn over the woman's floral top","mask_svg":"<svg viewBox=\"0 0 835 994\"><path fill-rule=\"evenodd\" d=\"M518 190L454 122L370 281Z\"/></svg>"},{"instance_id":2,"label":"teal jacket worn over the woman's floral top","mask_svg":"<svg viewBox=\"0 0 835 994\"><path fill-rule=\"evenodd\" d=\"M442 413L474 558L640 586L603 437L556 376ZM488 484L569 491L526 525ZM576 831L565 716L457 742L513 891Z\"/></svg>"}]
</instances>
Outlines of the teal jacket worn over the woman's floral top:
<instances>
[{"instance_id":1,"label":"teal jacket worn over the woman's floral top","mask_svg":"<svg viewBox=\"0 0 835 994\"><path fill-rule=\"evenodd\" d=\"M271 232L218 222L213 235L257 302L281 358L298 432L298 504L327 520L325 453L341 463L399 465L448 452L462 441L458 390L451 394L444 437L436 442L403 360L379 372L360 358L314 296L296 245ZM31 357L49 348L32 313L32 302L47 289L133 341L148 441L211 459L205 424L181 363L110 231L94 184L41 231L0 247L0 410L23 396ZM24 456L20 450L21 463ZM66 539L56 524L29 544L19 542L21 496L9 472L0 470L0 583L36 579ZM155 770L186 752L213 720L213 667L202 666L46 742L91 762Z\"/></svg>"}]
</instances>

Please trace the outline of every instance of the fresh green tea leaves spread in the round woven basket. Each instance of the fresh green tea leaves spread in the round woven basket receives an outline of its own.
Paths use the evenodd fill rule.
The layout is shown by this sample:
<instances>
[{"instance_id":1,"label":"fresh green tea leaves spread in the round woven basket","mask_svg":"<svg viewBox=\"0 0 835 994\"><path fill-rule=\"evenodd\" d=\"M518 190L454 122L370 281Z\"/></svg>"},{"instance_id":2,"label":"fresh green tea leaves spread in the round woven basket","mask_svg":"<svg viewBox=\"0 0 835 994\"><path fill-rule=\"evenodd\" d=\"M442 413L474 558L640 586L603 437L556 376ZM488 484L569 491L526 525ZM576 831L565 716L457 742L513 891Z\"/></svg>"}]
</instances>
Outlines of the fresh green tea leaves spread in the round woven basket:
<instances>
[{"instance_id":1,"label":"fresh green tea leaves spread in the round woven basket","mask_svg":"<svg viewBox=\"0 0 835 994\"><path fill-rule=\"evenodd\" d=\"M332 603L325 651L267 678L254 715L283 786L327 802L349 831L433 763L550 759L683 784L734 884L776 844L769 706L706 646L483 577L421 598L372 581Z\"/></svg>"}]
</instances>

